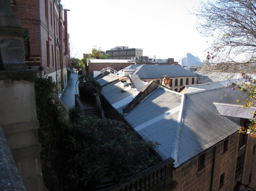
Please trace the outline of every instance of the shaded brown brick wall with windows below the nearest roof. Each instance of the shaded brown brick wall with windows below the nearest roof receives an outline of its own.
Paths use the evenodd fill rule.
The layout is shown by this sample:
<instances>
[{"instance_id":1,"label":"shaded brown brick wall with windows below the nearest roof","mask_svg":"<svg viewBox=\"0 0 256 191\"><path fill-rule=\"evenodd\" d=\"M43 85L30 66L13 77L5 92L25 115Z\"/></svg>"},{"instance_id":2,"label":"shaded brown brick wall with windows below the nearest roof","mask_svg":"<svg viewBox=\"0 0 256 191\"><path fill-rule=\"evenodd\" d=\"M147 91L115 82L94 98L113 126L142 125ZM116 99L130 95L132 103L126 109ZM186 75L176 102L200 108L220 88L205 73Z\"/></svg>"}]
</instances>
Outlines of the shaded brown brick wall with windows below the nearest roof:
<instances>
[{"instance_id":1,"label":"shaded brown brick wall with windows below the nearest roof","mask_svg":"<svg viewBox=\"0 0 256 191\"><path fill-rule=\"evenodd\" d=\"M224 141L216 146L213 189L212 191L233 191L237 153L238 153L239 134L235 133L228 138L228 150L223 153ZM250 187L256 187L256 154L253 155L253 145L256 140L248 138L247 149L244 162L244 172L242 183L249 184L249 176L252 173ZM206 151L205 167L197 172L198 157L173 171L173 179L178 182L174 191L206 191L210 190L210 179L213 161L214 148ZM225 173L224 185L219 188L220 176Z\"/></svg>"}]
</instances>

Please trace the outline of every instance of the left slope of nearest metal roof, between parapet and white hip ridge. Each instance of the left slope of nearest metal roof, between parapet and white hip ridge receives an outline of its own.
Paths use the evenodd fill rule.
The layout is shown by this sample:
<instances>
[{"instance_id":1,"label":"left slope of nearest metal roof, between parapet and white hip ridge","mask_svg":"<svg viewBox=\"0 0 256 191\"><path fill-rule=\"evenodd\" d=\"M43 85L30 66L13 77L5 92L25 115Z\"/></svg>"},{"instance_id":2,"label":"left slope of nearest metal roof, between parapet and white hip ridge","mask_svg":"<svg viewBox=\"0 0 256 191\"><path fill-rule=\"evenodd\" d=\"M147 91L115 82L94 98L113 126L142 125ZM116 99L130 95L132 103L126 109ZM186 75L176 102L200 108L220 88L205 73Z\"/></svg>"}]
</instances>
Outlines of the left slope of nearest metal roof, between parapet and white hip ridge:
<instances>
[{"instance_id":1,"label":"left slope of nearest metal roof, between parapet and white hip ridge","mask_svg":"<svg viewBox=\"0 0 256 191\"><path fill-rule=\"evenodd\" d=\"M124 118L145 140L158 141L162 159L170 158L182 95L159 87Z\"/></svg>"}]
</instances>

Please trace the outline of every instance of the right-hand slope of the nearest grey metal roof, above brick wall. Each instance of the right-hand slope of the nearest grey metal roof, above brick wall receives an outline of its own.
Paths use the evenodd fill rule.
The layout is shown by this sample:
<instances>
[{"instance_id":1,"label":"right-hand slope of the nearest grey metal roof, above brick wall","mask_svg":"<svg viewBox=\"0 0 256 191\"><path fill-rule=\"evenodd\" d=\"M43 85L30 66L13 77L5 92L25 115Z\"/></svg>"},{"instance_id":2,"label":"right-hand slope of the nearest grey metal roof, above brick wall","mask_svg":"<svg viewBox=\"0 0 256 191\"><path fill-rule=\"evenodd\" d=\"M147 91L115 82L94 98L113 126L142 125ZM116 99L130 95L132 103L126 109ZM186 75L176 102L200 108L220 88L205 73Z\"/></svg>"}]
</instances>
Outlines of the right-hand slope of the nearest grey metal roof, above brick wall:
<instances>
[{"instance_id":1,"label":"right-hand slope of the nearest grey metal roof, above brick wall","mask_svg":"<svg viewBox=\"0 0 256 191\"><path fill-rule=\"evenodd\" d=\"M219 115L213 102L235 104L245 93L233 90L232 87L223 87L185 96L183 123L180 129L182 133L178 138L179 149L176 150L178 157L174 158L176 167L237 131L239 126Z\"/></svg>"}]
</instances>

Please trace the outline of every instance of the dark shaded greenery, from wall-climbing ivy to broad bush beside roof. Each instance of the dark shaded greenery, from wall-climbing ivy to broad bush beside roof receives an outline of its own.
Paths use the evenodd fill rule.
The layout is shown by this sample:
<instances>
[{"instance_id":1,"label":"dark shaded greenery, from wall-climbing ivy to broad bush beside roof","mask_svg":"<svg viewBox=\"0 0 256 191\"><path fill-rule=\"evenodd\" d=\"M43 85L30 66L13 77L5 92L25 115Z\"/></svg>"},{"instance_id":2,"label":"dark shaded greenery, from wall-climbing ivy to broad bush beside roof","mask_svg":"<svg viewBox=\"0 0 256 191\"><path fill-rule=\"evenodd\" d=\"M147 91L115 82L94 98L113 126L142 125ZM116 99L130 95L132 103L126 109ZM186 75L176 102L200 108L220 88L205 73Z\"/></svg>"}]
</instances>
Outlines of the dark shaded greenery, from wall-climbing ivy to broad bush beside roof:
<instances>
[{"instance_id":1,"label":"dark shaded greenery, from wall-climbing ivy to broad bush beside roof","mask_svg":"<svg viewBox=\"0 0 256 191\"><path fill-rule=\"evenodd\" d=\"M55 83L36 79L43 179L51 191L94 190L102 178L120 181L156 164L158 143L138 139L123 122L84 118L71 109L66 121L53 96Z\"/></svg>"}]
</instances>

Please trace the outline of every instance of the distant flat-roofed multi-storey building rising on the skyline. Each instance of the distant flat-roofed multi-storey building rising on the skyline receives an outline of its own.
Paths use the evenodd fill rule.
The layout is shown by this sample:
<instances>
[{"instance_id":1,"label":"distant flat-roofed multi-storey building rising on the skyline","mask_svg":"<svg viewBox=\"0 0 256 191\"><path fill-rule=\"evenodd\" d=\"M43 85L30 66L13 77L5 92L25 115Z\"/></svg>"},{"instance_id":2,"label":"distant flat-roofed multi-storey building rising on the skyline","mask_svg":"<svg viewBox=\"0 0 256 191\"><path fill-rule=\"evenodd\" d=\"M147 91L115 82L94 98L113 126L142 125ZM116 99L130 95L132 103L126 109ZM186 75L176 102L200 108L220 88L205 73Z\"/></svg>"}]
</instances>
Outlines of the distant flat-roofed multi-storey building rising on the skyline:
<instances>
[{"instance_id":1,"label":"distant flat-roofed multi-storey building rising on the skyline","mask_svg":"<svg viewBox=\"0 0 256 191\"><path fill-rule=\"evenodd\" d=\"M142 48L128 48L127 46L117 46L106 51L106 54L109 55L109 59L118 59L118 60L130 60L130 59L139 59L143 56Z\"/></svg>"}]
</instances>

